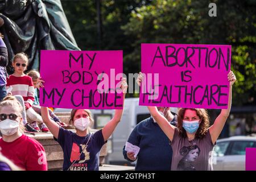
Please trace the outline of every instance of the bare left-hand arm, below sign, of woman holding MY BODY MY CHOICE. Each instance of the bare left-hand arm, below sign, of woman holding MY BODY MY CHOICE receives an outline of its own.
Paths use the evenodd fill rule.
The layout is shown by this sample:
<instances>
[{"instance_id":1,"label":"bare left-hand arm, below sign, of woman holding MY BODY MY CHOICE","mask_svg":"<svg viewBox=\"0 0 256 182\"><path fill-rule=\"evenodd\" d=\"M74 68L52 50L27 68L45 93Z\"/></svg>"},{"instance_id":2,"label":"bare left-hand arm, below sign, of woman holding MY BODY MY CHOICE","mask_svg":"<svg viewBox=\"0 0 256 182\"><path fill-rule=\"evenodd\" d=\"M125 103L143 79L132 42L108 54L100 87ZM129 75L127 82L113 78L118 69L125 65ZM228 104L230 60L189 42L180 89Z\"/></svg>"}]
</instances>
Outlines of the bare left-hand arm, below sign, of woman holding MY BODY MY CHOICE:
<instances>
[{"instance_id":1,"label":"bare left-hand arm, below sign, of woman holding MY BODY MY CHOICE","mask_svg":"<svg viewBox=\"0 0 256 182\"><path fill-rule=\"evenodd\" d=\"M50 119L48 107L41 107L41 115L43 118L43 122L46 123L46 126L48 127L49 131L51 131L55 138L58 138L60 126L55 121L52 121L52 119Z\"/></svg>"}]
</instances>

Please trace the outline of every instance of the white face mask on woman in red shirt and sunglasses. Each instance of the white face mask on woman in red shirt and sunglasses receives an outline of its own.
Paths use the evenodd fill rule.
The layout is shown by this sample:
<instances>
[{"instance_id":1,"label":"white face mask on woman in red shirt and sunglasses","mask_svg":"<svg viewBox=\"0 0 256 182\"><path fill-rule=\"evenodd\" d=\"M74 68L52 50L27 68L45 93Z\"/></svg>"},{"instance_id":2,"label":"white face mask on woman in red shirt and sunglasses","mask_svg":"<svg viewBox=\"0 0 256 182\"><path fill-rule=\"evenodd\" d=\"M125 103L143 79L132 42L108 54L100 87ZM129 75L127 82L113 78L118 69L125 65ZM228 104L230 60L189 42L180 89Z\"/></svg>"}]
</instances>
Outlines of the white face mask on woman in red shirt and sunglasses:
<instances>
[{"instance_id":1,"label":"white face mask on woman in red shirt and sunglasses","mask_svg":"<svg viewBox=\"0 0 256 182\"><path fill-rule=\"evenodd\" d=\"M11 119L5 119L0 122L0 131L3 135L13 135L19 128L19 123Z\"/></svg>"}]
</instances>

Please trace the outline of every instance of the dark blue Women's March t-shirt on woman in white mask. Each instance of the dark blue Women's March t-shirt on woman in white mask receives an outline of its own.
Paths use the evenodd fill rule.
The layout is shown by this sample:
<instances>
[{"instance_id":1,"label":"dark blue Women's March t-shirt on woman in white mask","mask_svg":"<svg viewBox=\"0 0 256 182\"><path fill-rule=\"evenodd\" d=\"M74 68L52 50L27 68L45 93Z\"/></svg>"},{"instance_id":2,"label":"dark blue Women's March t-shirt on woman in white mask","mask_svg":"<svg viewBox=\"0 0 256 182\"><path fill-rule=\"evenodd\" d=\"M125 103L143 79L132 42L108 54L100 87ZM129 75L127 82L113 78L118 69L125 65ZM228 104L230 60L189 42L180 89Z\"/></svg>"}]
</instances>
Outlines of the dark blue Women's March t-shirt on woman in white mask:
<instances>
[{"instance_id":1,"label":"dark blue Women's March t-shirt on woman in white mask","mask_svg":"<svg viewBox=\"0 0 256 182\"><path fill-rule=\"evenodd\" d=\"M89 136L90 140L88 142ZM77 158L77 161L72 164L70 171L98 171L100 165L100 150L105 144L102 130L95 133L89 133L85 137L79 137L69 130L60 127L59 137L57 142L63 149L64 162L63 170L67 171ZM88 142L87 147L85 144ZM82 150L84 151L82 152ZM82 154L81 154L82 152ZM81 156L79 157L79 155Z\"/></svg>"}]
</instances>

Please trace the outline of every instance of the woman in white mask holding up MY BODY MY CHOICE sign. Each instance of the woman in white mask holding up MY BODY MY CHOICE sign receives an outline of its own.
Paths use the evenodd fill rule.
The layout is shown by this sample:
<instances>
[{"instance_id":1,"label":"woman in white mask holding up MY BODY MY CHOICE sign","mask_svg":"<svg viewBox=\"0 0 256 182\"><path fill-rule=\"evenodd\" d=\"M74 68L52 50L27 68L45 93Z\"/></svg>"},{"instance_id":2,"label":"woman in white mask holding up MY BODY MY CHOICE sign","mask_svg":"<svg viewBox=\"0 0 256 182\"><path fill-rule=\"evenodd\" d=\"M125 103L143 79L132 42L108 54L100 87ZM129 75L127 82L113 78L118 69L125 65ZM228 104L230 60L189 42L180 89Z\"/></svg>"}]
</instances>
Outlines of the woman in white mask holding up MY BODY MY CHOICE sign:
<instances>
[{"instance_id":1,"label":"woman in white mask holding up MY BODY MY CHOICE sign","mask_svg":"<svg viewBox=\"0 0 256 182\"><path fill-rule=\"evenodd\" d=\"M38 85L42 85L42 80L39 80ZM123 92L123 101L127 90L125 78L122 79L121 89ZM124 103L124 102L123 102ZM76 133L68 131L52 121L48 114L47 107L41 107L41 113L44 123L60 144L64 153L63 170L68 171L98 171L99 155L101 147L107 142L112 135L115 127L122 118L123 109L116 109L114 117L106 124L106 126L96 131L89 133L88 127L93 122L92 115L88 109L73 109L69 123L75 126Z\"/></svg>"}]
</instances>

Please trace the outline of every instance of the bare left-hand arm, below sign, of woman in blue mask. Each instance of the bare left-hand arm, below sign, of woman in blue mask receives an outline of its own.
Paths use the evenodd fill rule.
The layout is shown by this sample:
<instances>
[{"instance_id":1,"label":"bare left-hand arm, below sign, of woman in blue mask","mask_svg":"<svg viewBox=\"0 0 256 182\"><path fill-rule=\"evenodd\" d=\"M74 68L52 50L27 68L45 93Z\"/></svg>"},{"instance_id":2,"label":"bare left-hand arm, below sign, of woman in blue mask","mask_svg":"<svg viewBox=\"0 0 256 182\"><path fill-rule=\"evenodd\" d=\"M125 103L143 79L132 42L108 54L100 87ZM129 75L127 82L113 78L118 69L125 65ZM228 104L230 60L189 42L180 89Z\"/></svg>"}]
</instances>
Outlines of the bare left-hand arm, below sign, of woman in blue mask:
<instances>
[{"instance_id":1,"label":"bare left-hand arm, below sign, of woman in blue mask","mask_svg":"<svg viewBox=\"0 0 256 182\"><path fill-rule=\"evenodd\" d=\"M147 106L147 107L148 107L148 110L150 111L150 114L158 123L160 128L167 135L167 137L172 141L172 139L174 138L175 126L171 125L170 122L168 122L168 120L158 112L158 109L155 106Z\"/></svg>"}]
</instances>

